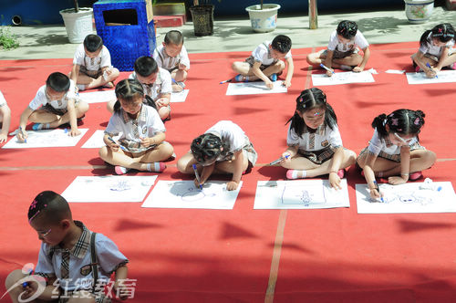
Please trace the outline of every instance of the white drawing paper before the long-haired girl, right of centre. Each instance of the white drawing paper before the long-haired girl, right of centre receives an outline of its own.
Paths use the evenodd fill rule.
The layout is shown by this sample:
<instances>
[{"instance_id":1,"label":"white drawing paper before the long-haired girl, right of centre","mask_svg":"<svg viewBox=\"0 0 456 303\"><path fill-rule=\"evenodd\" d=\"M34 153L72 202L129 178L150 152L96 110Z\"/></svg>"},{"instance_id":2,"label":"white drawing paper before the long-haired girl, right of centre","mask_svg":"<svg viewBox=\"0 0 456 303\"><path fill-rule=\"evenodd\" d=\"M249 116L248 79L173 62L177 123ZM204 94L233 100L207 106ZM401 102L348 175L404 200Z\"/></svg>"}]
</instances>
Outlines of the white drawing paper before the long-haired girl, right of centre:
<instances>
[{"instance_id":1,"label":"white drawing paper before the long-haired girl, right of centre","mask_svg":"<svg viewBox=\"0 0 456 303\"><path fill-rule=\"evenodd\" d=\"M258 181L254 209L316 209L350 207L347 180L342 189L327 180Z\"/></svg>"}]
</instances>

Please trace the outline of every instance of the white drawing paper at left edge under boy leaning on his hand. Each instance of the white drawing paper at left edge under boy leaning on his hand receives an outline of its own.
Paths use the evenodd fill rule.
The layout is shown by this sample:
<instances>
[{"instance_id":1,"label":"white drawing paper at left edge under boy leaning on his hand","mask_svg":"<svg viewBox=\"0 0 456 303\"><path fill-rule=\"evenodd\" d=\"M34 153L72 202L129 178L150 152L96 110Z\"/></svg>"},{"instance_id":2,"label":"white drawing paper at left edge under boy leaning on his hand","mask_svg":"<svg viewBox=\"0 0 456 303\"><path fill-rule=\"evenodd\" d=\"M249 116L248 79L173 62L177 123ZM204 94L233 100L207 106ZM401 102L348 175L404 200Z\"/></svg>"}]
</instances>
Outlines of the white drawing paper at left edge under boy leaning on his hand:
<instances>
[{"instance_id":1,"label":"white drawing paper at left edge under boy leaning on his hand","mask_svg":"<svg viewBox=\"0 0 456 303\"><path fill-rule=\"evenodd\" d=\"M27 131L28 137L26 143L19 142L17 137L11 138L4 149L27 149L36 147L68 147L76 146L82 136L88 129L78 129L81 133L78 136L71 137L68 134L68 129L54 129L43 131Z\"/></svg>"}]
</instances>

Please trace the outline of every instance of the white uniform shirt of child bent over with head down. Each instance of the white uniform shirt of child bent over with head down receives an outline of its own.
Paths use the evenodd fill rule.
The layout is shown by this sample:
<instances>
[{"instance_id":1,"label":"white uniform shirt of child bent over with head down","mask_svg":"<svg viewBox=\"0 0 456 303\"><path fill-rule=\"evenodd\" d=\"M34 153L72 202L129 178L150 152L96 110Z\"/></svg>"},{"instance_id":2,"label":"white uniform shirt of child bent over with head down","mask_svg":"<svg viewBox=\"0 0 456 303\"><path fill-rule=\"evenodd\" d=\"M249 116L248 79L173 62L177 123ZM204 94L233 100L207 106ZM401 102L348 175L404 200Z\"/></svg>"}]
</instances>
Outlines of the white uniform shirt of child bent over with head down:
<instances>
[{"instance_id":1,"label":"white uniform shirt of child bent over with head down","mask_svg":"<svg viewBox=\"0 0 456 303\"><path fill-rule=\"evenodd\" d=\"M258 155L254 150L254 144L250 142L244 131L237 124L233 123L233 121L218 121L204 133L212 133L220 137L223 141L224 150L217 157L216 161L231 161L233 159L234 152L242 150L244 156L247 157L249 161L250 169L256 163Z\"/></svg>"}]
</instances>

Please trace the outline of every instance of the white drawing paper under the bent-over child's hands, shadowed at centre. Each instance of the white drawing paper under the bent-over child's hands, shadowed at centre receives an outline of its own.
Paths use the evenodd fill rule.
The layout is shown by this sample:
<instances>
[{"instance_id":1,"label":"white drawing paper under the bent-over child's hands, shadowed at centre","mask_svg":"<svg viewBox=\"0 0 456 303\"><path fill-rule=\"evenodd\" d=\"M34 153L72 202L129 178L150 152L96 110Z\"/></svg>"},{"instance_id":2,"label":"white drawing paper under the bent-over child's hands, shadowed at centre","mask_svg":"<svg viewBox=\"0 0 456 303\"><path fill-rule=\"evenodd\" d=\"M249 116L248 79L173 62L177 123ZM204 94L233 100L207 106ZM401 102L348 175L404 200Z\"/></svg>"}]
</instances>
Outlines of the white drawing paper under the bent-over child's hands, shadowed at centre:
<instances>
[{"instance_id":1,"label":"white drawing paper under the bent-over child's hands, shadowed at centre","mask_svg":"<svg viewBox=\"0 0 456 303\"><path fill-rule=\"evenodd\" d=\"M142 207L233 209L243 182L235 191L227 191L226 183L211 180L200 190L193 181L160 180Z\"/></svg>"}]
</instances>

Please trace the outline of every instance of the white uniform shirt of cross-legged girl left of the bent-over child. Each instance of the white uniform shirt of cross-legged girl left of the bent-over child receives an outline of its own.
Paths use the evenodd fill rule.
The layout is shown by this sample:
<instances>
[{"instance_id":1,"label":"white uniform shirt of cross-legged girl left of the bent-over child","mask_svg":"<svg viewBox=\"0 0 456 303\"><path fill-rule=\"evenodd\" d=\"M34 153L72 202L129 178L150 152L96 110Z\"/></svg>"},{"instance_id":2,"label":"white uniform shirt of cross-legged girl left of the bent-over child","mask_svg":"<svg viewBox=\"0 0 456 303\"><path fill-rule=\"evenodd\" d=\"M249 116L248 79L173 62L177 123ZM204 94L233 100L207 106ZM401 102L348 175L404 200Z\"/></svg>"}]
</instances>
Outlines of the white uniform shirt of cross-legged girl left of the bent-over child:
<instances>
[{"instance_id":1,"label":"white uniform shirt of cross-legged girl left of the bent-over child","mask_svg":"<svg viewBox=\"0 0 456 303\"><path fill-rule=\"evenodd\" d=\"M142 104L137 119L131 119L127 112L120 109L114 112L109 119L105 133L109 136L117 136L121 133L119 144L127 151L134 153L148 151L157 145L144 147L140 138L153 137L159 132L165 132L165 126L160 119L157 110Z\"/></svg>"}]
</instances>

